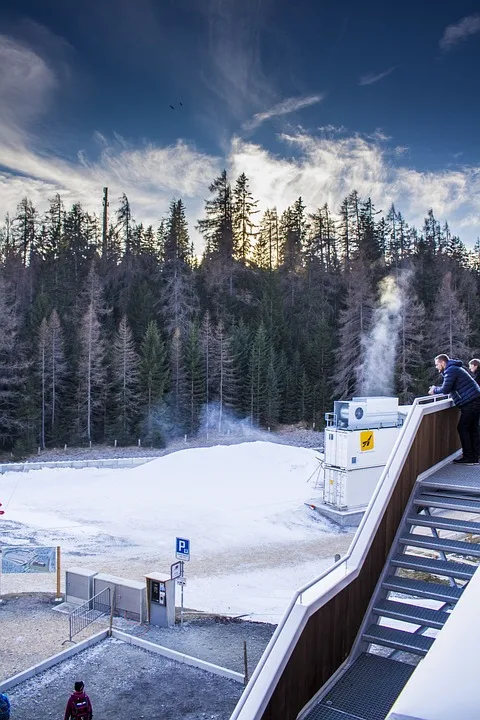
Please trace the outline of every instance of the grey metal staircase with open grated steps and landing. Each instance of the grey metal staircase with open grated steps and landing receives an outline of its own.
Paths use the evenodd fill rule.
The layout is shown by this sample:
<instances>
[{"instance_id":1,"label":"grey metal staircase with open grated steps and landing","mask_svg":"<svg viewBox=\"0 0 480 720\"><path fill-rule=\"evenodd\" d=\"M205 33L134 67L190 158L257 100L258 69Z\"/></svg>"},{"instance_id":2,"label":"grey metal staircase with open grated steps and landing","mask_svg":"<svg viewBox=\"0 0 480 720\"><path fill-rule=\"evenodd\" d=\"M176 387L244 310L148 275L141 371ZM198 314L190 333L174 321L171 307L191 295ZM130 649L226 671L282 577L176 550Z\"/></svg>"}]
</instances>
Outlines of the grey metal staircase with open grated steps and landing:
<instances>
[{"instance_id":1,"label":"grey metal staircase with open grated steps and landing","mask_svg":"<svg viewBox=\"0 0 480 720\"><path fill-rule=\"evenodd\" d=\"M302 718L384 720L479 562L480 466L448 465L416 483L345 668Z\"/></svg>"}]
</instances>

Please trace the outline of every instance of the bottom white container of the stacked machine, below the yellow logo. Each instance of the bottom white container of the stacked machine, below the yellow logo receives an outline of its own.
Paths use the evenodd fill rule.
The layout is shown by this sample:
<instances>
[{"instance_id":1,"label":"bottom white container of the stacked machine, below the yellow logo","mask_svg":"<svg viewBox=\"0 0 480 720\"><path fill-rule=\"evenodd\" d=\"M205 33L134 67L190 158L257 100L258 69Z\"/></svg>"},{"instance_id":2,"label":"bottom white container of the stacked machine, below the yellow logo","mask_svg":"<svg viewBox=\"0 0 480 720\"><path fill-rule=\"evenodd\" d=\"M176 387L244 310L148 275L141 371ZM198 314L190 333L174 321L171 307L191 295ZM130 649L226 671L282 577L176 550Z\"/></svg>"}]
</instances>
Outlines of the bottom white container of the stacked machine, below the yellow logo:
<instances>
[{"instance_id":1,"label":"bottom white container of the stacked machine, below the yellow logo","mask_svg":"<svg viewBox=\"0 0 480 720\"><path fill-rule=\"evenodd\" d=\"M363 470L325 467L323 502L337 510L364 508L382 474L383 466Z\"/></svg>"}]
</instances>

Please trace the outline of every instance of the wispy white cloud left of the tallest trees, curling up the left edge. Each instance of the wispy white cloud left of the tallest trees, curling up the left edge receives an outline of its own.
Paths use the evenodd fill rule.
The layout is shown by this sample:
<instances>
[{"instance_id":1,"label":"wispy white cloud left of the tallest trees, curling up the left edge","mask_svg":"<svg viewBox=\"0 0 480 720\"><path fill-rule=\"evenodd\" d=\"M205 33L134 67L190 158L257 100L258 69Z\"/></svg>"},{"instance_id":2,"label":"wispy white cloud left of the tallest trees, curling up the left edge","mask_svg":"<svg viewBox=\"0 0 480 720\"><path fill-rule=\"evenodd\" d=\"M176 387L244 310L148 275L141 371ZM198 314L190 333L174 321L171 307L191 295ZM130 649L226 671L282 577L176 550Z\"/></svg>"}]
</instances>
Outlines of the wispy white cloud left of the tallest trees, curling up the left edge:
<instances>
[{"instance_id":1,"label":"wispy white cloud left of the tallest trees, curling up the left edge","mask_svg":"<svg viewBox=\"0 0 480 720\"><path fill-rule=\"evenodd\" d=\"M101 188L108 185L113 196L125 192L144 221L158 222L174 196L190 199L195 219L221 160L181 140L166 147L132 146L118 135L97 133L94 160L83 152L74 160L38 152L33 123L48 110L58 85L42 57L0 35L0 213L14 212L25 195L43 210L57 192L67 204L80 201L98 212Z\"/></svg>"}]
</instances>

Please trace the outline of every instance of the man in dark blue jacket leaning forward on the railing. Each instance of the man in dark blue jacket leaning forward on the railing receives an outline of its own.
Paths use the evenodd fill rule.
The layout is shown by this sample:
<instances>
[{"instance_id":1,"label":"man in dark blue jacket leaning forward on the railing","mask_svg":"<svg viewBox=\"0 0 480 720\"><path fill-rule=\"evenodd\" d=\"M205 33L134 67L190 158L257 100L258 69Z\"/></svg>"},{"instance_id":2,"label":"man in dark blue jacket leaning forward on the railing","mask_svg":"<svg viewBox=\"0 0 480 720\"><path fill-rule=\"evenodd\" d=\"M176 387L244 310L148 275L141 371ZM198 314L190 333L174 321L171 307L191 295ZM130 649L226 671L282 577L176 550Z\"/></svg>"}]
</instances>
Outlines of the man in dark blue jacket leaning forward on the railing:
<instances>
[{"instance_id":1,"label":"man in dark blue jacket leaning forward on the railing","mask_svg":"<svg viewBox=\"0 0 480 720\"><path fill-rule=\"evenodd\" d=\"M450 395L460 408L457 430L462 443L463 456L454 463L477 464L480 455L480 387L462 367L461 360L450 360L448 355L437 355L435 367L443 375L443 385L432 385L429 395Z\"/></svg>"}]
</instances>

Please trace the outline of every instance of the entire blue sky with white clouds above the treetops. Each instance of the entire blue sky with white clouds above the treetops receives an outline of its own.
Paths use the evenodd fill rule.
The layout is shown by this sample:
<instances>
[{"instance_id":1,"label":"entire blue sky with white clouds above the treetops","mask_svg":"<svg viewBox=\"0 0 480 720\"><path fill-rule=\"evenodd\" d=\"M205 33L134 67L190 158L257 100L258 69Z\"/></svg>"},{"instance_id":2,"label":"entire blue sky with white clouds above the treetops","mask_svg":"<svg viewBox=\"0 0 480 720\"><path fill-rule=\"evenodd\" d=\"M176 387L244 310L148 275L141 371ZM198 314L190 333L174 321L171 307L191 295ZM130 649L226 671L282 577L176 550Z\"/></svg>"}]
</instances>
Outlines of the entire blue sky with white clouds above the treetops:
<instances>
[{"instance_id":1,"label":"entire blue sky with white clouds above the treetops","mask_svg":"<svg viewBox=\"0 0 480 720\"><path fill-rule=\"evenodd\" d=\"M108 186L155 225L182 198L196 238L226 168L260 210L356 189L472 246L479 67L470 0L3 0L0 217Z\"/></svg>"}]
</instances>

